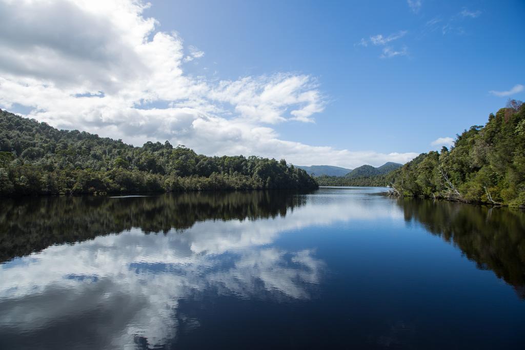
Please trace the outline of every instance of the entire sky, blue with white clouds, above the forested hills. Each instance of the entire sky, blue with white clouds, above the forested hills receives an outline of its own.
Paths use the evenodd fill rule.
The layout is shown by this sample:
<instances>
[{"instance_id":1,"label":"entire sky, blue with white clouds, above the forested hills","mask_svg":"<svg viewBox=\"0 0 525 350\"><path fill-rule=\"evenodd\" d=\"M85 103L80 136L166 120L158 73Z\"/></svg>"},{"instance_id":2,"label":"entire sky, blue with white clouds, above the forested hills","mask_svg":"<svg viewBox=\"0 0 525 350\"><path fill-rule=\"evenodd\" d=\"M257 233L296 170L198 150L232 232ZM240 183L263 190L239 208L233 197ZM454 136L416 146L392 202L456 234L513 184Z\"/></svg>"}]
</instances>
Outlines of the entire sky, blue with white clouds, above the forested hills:
<instances>
[{"instance_id":1,"label":"entire sky, blue with white clouds, above the forested hills","mask_svg":"<svg viewBox=\"0 0 525 350\"><path fill-rule=\"evenodd\" d=\"M47 29L39 28L44 33L39 38L24 37L16 45L13 37L6 39L10 34L3 34L0 48L14 50L18 57L34 50L34 46L21 47L19 43L33 40L34 45L58 52L41 60L70 67L72 76L76 76L78 69L92 74L64 82L66 79L58 73L48 76L35 73L35 69L16 67L15 75L13 68L2 72L0 67L0 77L4 79L3 84L0 80L0 89L4 86L12 91L14 85L9 84L16 84L15 90L20 91L17 95L4 94L0 107L58 127L83 128L134 144L169 139L207 154L250 152L283 156L304 165L381 165L385 161L405 162L415 154L440 149L439 142L432 142L441 138L445 140L442 143L447 143L448 137L469 126L484 124L488 114L504 107L509 98L525 99L523 1L153 0L151 6L119 8L120 17L110 13L117 8L113 5L100 5L95 10L89 4L79 5L82 2L55 3L53 8L43 5L40 9L49 12L50 22L54 16L67 14L71 18L78 16L79 23L93 27L89 23L95 20L91 15L98 16L98 22L93 23L108 19L111 24L100 26L100 38L97 25L89 35L84 35L75 24L64 24L65 30L76 37L88 38L90 52L100 50L103 54L93 56L93 62L86 68L85 57L81 62L72 61L68 46L58 47L47 40ZM78 9L74 8L77 5ZM22 13L33 7L21 5L13 9L12 6L9 10ZM132 23L125 22L128 19L124 15L136 18ZM43 17L45 22L47 17ZM117 22L125 23L130 33L123 33L122 26L111 27ZM151 28L142 28L146 22ZM27 19L25 25L30 28L35 24ZM67 28L68 25L73 28ZM50 30L49 37L57 34L54 30ZM114 33L116 38L104 41L109 40L108 33ZM169 81L156 81L152 77L140 80L155 81L150 88L136 91L137 96L142 93L149 97L123 98L131 93L122 91L130 90L139 81L130 77L129 72L149 70L133 68L135 61L124 61L121 58L124 54L117 56L113 52L116 50L108 50L108 46L122 45L119 49L122 52L133 51L126 57L139 52L137 61L144 60L140 55L145 49L128 48L121 38L128 34L139 38L142 35L142 41L156 42L155 47L161 47L165 41L158 40L156 33L165 33L176 41L169 50L159 50L166 55L164 61L170 55L178 55L174 59L176 68L169 71L180 69L180 72L170 80L172 86ZM62 35L67 41L68 34ZM57 55L62 56L58 59ZM161 53L155 57L161 57ZM121 59L121 63L115 63ZM132 68L121 71L120 67L127 66ZM155 77L170 74L155 72L151 73ZM99 74L100 78L93 78ZM112 79L109 83L102 78L108 75ZM27 79L37 78L43 79L38 81L38 89L35 87L37 93L48 93L51 81L61 93L54 99L64 104L65 109L67 106L73 109L79 101L86 105L67 116L62 115L63 109L58 113L44 101L27 102L29 93L36 92L23 92L23 86ZM231 91L230 86L246 83L246 79L251 79L254 96L268 86L286 83L287 79L301 82L296 81L293 99L286 99L289 104L281 101L283 104L274 110L275 101L251 105L246 100L239 102L240 95L235 99L223 96ZM116 82L121 81L127 83L118 86ZM228 90L217 92L225 84ZM235 91L240 94L246 88L242 86ZM178 94L158 92L163 89L185 90ZM76 93L75 101L69 101L71 91ZM100 95L100 91L103 98L85 97ZM152 91L154 96L150 96ZM311 98L301 100L306 92L311 93ZM128 112L120 115L124 108ZM292 112L294 108L300 112ZM268 115L276 112L273 119L266 118L266 114L260 116L267 111ZM79 113L81 118L77 117ZM203 113L207 113L205 117ZM182 123L183 120L190 124ZM197 129L201 126L202 129ZM183 132L192 128L196 131ZM252 142L254 139L259 141Z\"/></svg>"}]
</instances>

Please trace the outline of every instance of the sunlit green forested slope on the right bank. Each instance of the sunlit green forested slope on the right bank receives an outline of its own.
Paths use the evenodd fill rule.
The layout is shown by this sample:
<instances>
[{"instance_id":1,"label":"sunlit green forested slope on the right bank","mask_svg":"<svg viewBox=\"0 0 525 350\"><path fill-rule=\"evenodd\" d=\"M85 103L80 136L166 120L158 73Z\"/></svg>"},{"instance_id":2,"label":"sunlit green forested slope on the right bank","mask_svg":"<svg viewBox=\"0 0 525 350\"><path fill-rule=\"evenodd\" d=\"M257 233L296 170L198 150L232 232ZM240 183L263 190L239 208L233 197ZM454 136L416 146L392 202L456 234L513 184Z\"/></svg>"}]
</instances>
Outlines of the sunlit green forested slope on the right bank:
<instances>
[{"instance_id":1,"label":"sunlit green forested slope on the right bank","mask_svg":"<svg viewBox=\"0 0 525 350\"><path fill-rule=\"evenodd\" d=\"M525 105L509 101L450 150L423 153L386 180L401 196L525 207Z\"/></svg>"}]
</instances>

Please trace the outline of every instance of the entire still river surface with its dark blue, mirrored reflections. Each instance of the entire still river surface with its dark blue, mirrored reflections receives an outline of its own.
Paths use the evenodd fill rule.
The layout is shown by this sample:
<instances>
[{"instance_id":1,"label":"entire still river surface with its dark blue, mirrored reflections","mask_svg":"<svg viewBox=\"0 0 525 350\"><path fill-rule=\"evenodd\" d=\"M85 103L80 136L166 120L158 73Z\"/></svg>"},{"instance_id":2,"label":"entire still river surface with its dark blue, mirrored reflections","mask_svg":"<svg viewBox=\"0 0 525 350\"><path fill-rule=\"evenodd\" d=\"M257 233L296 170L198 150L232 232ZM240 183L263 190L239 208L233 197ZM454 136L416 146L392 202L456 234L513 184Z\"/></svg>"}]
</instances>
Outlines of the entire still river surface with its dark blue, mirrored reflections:
<instances>
[{"instance_id":1,"label":"entire still river surface with its dark blue, mirrored reflections","mask_svg":"<svg viewBox=\"0 0 525 350\"><path fill-rule=\"evenodd\" d=\"M523 211L379 192L4 198L0 348L523 348Z\"/></svg>"}]
</instances>

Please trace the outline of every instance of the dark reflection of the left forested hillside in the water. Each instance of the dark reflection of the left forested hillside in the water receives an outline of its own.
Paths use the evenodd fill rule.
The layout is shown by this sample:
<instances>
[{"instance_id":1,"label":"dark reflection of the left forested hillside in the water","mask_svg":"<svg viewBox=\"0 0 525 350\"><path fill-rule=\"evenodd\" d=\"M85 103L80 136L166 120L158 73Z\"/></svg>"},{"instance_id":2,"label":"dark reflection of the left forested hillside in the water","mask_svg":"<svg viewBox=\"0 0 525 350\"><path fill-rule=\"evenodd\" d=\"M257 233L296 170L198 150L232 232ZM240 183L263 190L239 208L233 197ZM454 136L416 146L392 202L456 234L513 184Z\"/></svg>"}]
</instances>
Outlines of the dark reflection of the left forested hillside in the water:
<instances>
[{"instance_id":1,"label":"dark reflection of the left forested hillside in the water","mask_svg":"<svg viewBox=\"0 0 525 350\"><path fill-rule=\"evenodd\" d=\"M285 216L305 198L286 191L189 192L151 197L3 198L0 262L50 245L93 239L139 227L177 231L204 220Z\"/></svg>"}]
</instances>

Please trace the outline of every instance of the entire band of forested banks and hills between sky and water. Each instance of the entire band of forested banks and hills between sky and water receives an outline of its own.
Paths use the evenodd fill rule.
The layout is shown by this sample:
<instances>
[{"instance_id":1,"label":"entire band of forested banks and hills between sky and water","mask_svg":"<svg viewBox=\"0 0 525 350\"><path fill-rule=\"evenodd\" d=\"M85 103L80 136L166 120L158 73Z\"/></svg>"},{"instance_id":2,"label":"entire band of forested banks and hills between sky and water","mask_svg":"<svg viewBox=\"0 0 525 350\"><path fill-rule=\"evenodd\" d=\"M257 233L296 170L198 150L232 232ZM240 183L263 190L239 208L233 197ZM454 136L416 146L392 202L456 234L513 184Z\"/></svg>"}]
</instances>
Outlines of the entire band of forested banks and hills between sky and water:
<instances>
[{"instance_id":1,"label":"entire band of forested banks and hills between sky and water","mask_svg":"<svg viewBox=\"0 0 525 350\"><path fill-rule=\"evenodd\" d=\"M285 160L209 157L167 141L134 147L2 110L0 123L0 195L388 186L397 196L525 207L525 104L516 100L458 134L450 149L358 177L313 178Z\"/></svg>"}]
</instances>

